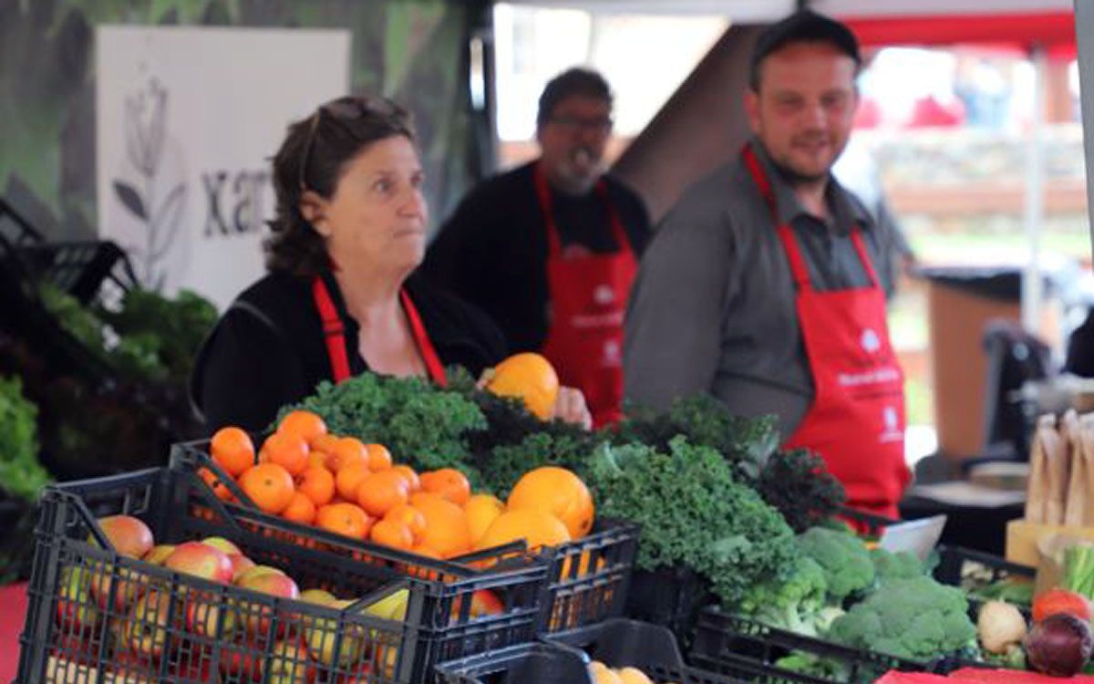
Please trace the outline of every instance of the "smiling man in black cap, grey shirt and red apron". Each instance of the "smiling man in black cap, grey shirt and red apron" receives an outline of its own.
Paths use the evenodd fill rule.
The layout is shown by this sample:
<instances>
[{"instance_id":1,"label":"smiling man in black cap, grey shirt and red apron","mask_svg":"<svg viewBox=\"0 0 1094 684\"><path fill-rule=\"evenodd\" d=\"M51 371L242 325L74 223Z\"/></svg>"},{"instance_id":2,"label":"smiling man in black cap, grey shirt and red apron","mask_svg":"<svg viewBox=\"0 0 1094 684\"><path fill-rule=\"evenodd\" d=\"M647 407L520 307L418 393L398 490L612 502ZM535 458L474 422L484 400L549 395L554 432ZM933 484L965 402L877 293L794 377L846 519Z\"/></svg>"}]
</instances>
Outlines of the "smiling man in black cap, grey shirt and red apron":
<instances>
[{"instance_id":1,"label":"smiling man in black cap, grey shirt and red apron","mask_svg":"<svg viewBox=\"0 0 1094 684\"><path fill-rule=\"evenodd\" d=\"M830 170L858 105L859 47L801 11L752 57L753 138L689 188L647 251L627 314L627 397L708 392L778 417L824 457L851 506L897 514L908 480L903 373L889 344L892 227Z\"/></svg>"}]
</instances>

